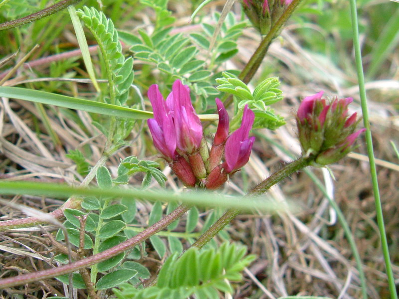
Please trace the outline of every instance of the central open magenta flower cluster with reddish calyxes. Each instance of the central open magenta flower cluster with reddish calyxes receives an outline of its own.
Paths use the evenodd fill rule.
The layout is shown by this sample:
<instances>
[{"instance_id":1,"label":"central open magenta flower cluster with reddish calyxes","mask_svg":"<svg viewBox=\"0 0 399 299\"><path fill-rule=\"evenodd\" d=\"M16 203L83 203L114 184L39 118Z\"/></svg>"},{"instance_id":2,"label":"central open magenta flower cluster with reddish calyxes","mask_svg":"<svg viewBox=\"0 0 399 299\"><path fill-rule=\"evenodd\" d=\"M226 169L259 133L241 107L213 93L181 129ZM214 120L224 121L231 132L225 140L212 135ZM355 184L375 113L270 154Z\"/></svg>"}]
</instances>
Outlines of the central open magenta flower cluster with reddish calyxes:
<instances>
[{"instance_id":1,"label":"central open magenta flower cluster with reddish calyxes","mask_svg":"<svg viewBox=\"0 0 399 299\"><path fill-rule=\"evenodd\" d=\"M208 189L216 189L227 180L228 174L248 162L255 139L248 135L255 115L247 106L241 127L229 136L227 111L216 99L219 123L209 151L188 86L176 80L165 101L154 84L148 90L148 97L154 111L154 118L148 120L154 145L186 186L204 184Z\"/></svg>"}]
</instances>

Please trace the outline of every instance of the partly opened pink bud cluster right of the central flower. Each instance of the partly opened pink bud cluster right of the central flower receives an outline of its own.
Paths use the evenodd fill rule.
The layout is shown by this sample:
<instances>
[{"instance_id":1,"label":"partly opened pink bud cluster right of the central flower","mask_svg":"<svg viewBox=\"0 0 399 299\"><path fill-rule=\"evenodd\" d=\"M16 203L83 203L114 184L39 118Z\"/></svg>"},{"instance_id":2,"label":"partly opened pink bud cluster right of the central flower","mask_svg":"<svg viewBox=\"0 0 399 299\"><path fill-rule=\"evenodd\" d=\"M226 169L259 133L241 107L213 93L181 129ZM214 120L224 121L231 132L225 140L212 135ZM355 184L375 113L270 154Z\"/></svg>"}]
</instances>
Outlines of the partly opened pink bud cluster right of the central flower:
<instances>
[{"instance_id":1,"label":"partly opened pink bud cluster right of the central flower","mask_svg":"<svg viewBox=\"0 0 399 299\"><path fill-rule=\"evenodd\" d=\"M322 99L323 92L306 97L298 108L296 120L302 154L314 157L316 165L334 163L354 147L356 138L366 129L355 132L360 122L355 112L348 115L352 98Z\"/></svg>"}]
</instances>

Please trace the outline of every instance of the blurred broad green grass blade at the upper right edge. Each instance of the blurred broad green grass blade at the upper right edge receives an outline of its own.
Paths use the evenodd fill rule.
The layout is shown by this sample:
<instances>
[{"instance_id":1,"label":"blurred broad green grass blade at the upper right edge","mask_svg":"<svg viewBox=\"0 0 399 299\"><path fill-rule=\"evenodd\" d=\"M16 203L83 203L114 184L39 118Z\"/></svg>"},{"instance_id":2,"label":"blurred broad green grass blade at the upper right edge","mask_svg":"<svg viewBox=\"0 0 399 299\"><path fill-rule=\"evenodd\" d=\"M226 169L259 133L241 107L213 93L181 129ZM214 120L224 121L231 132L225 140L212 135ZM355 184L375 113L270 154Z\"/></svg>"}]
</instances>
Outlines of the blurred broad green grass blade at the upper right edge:
<instances>
[{"instance_id":1,"label":"blurred broad green grass blade at the upper right edge","mask_svg":"<svg viewBox=\"0 0 399 299\"><path fill-rule=\"evenodd\" d=\"M374 75L381 69L381 65L386 60L387 56L392 53L399 43L399 8L392 15L387 22L379 36L373 50L370 53L372 60L370 67L367 70L367 77L373 78Z\"/></svg>"}]
</instances>

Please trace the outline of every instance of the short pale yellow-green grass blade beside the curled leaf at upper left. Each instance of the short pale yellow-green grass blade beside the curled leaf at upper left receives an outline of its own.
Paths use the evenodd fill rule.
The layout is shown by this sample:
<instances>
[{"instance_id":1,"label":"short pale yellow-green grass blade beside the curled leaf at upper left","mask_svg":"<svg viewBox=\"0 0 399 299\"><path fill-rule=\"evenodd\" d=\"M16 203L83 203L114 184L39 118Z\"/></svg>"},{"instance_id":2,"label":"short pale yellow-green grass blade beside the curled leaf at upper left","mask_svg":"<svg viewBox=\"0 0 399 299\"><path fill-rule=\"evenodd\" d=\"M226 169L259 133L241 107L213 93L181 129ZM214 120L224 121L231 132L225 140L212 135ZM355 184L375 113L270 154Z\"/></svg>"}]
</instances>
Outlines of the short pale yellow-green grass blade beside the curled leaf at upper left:
<instances>
[{"instance_id":1,"label":"short pale yellow-green grass blade beside the curled leaf at upper left","mask_svg":"<svg viewBox=\"0 0 399 299\"><path fill-rule=\"evenodd\" d=\"M98 83L96 81L93 64L91 63L89 46L87 45L87 40L86 40L86 36L84 35L84 32L83 32L82 24L80 23L80 20L79 20L78 16L76 15L76 9L74 6L72 6L72 5L68 6L68 12L69 12L69 15L71 16L73 28L75 29L75 34L76 34L76 38L78 40L79 48L82 51L83 62L84 62L84 65L86 66L87 73L89 74L89 78L90 78L91 82L93 82L95 89L99 92L100 87L98 86Z\"/></svg>"}]
</instances>

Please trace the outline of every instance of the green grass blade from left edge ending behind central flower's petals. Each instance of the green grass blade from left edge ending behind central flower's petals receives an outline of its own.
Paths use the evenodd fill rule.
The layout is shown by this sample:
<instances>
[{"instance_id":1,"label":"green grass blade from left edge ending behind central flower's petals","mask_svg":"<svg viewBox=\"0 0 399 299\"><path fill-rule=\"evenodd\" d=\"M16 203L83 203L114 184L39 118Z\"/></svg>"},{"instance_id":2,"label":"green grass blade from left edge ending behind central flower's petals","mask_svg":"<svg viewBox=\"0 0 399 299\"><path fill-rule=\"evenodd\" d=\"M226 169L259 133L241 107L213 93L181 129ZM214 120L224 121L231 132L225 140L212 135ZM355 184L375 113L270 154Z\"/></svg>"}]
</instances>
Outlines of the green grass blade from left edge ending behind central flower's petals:
<instances>
[{"instance_id":1,"label":"green grass blade from left edge ending behind central flower's petals","mask_svg":"<svg viewBox=\"0 0 399 299\"><path fill-rule=\"evenodd\" d=\"M153 117L152 112L20 87L0 86L0 97L20 99L35 103L54 105L69 109L82 110L116 117L133 118L139 120L145 120Z\"/></svg>"}]
</instances>

